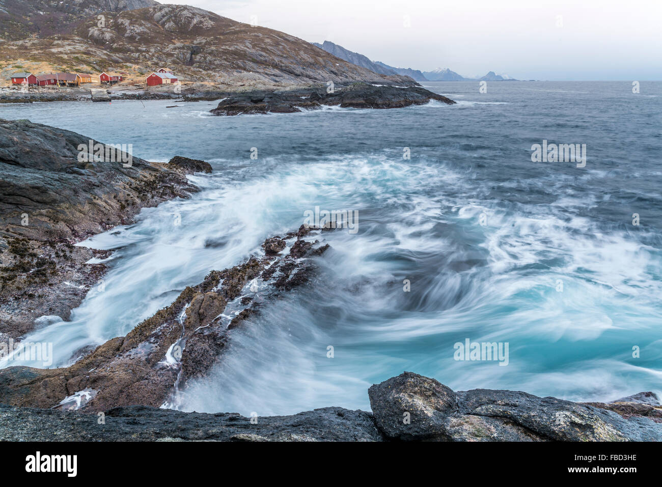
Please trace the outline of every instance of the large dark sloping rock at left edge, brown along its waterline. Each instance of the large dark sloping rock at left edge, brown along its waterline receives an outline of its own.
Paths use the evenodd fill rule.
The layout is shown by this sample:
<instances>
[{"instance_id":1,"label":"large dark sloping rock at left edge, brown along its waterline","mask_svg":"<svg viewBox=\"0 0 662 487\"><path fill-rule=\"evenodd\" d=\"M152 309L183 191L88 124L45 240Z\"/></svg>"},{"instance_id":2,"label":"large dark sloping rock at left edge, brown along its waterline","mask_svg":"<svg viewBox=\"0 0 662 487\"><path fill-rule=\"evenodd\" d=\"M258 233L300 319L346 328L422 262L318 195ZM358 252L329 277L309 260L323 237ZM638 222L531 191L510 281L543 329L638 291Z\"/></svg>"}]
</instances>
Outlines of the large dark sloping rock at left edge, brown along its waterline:
<instances>
[{"instance_id":1,"label":"large dark sloping rock at left edge, brown along its waterline","mask_svg":"<svg viewBox=\"0 0 662 487\"><path fill-rule=\"evenodd\" d=\"M90 144L103 157L79 160ZM0 340L40 316L68 319L99 281L105 266L85 262L105 253L73 244L128 224L145 206L187 197L197 187L186 175L209 171L129 155L68 130L0 120Z\"/></svg>"}]
</instances>

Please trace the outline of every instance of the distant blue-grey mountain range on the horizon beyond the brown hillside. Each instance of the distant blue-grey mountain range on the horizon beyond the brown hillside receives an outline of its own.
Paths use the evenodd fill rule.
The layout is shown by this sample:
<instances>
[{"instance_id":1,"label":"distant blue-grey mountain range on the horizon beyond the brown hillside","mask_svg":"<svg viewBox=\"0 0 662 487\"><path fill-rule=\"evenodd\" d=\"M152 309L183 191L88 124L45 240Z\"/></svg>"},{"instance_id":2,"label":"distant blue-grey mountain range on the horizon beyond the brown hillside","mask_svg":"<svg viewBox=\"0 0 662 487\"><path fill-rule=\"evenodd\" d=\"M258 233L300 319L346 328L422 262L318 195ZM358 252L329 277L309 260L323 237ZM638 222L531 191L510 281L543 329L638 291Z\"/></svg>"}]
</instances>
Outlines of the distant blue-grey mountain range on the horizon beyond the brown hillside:
<instances>
[{"instance_id":1,"label":"distant blue-grey mountain range on the horizon beyond the brown hillside","mask_svg":"<svg viewBox=\"0 0 662 487\"><path fill-rule=\"evenodd\" d=\"M357 66L365 67L375 73L385 75L401 75L409 76L416 81L517 81L508 75L498 75L494 71L489 71L485 76L465 77L455 71L451 71L448 67L438 67L433 71L419 71L418 69L411 69L410 67L393 67L379 61L371 61L367 56L357 52L345 49L338 44L334 44L328 40L324 44L312 42L314 46L325 50L329 54L333 54L336 58L340 58Z\"/></svg>"}]
</instances>

